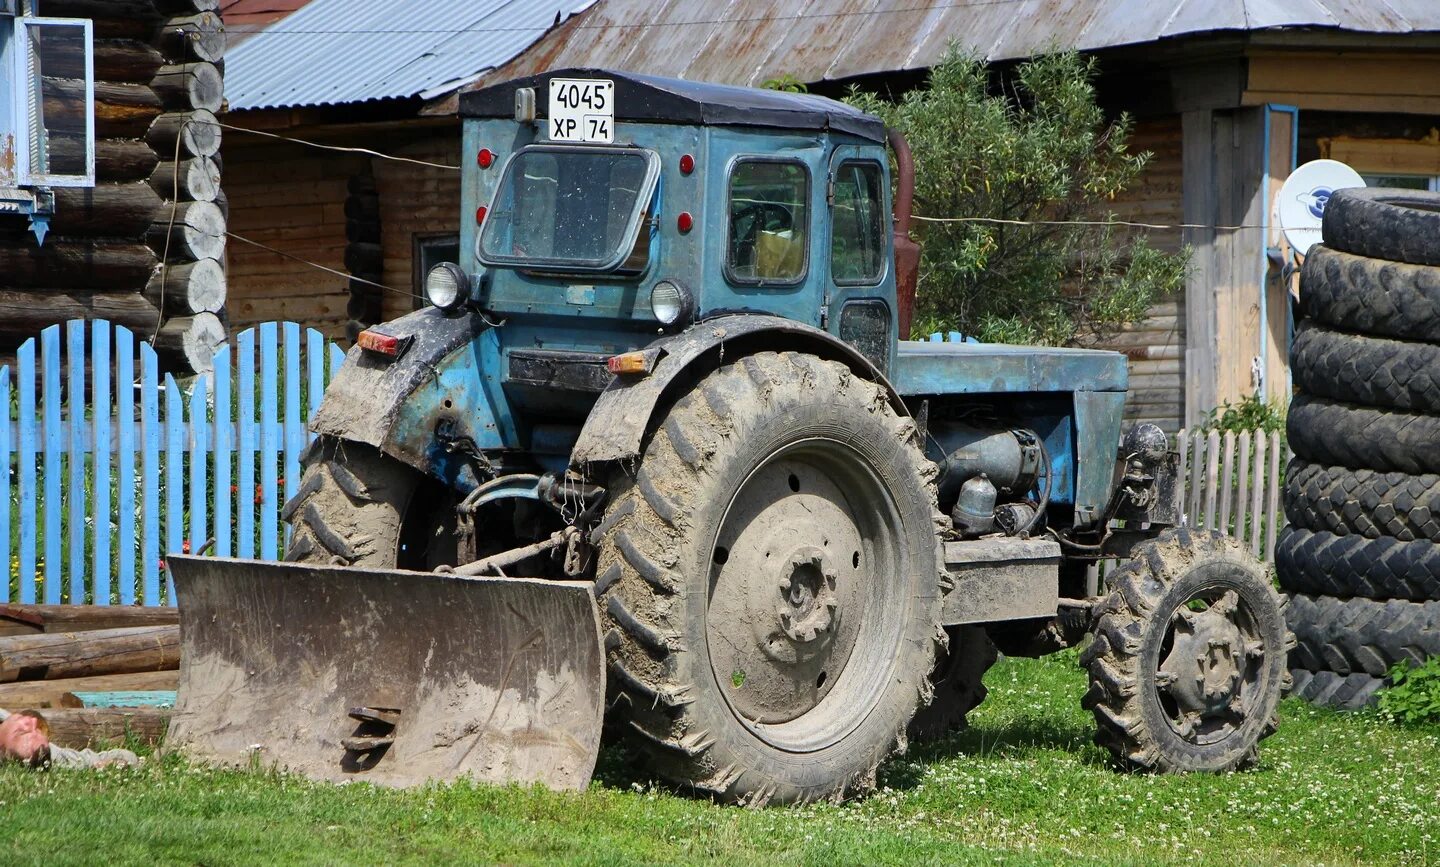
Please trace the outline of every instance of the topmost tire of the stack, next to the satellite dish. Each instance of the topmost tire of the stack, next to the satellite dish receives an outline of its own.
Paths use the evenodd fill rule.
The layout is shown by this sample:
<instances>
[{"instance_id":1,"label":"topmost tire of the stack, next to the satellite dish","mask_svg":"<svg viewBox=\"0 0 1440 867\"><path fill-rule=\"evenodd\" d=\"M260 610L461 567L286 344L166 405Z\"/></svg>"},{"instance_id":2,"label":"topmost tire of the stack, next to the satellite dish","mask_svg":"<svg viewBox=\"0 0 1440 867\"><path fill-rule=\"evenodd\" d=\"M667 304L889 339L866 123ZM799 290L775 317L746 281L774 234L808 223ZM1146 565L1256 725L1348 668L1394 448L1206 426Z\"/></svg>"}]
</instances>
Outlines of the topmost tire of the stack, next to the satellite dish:
<instances>
[{"instance_id":1,"label":"topmost tire of the stack, next to the satellite dish","mask_svg":"<svg viewBox=\"0 0 1440 867\"><path fill-rule=\"evenodd\" d=\"M1325 203L1325 243L1345 252L1440 265L1440 193L1356 187L1335 190Z\"/></svg>"}]
</instances>

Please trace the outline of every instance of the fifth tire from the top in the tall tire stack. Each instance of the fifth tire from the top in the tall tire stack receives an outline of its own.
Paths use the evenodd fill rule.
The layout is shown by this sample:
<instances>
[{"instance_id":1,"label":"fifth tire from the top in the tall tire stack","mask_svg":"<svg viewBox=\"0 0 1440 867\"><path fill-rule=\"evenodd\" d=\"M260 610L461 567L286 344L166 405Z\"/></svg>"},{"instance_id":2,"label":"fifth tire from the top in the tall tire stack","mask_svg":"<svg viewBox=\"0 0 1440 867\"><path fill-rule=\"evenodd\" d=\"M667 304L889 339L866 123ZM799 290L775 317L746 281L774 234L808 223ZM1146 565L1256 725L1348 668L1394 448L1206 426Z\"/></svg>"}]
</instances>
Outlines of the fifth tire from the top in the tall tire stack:
<instances>
[{"instance_id":1,"label":"fifth tire from the top in the tall tire stack","mask_svg":"<svg viewBox=\"0 0 1440 867\"><path fill-rule=\"evenodd\" d=\"M1336 536L1440 542L1440 475L1407 475L1290 461L1284 517Z\"/></svg>"}]
</instances>

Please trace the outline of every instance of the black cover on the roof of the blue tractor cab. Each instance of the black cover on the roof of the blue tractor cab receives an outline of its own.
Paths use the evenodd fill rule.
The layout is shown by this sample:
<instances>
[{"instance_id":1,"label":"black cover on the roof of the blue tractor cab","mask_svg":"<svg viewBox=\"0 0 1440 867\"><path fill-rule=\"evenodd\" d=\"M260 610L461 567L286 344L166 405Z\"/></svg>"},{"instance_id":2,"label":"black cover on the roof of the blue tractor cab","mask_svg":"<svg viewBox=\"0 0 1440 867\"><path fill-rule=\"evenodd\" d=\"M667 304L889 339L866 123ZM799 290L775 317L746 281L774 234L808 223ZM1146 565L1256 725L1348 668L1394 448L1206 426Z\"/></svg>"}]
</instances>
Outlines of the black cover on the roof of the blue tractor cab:
<instances>
[{"instance_id":1,"label":"black cover on the roof of the blue tractor cab","mask_svg":"<svg viewBox=\"0 0 1440 867\"><path fill-rule=\"evenodd\" d=\"M461 94L459 115L467 118L511 118L516 114L516 89L534 88L536 108L540 117L544 117L552 78L613 81L616 121L834 130L877 143L886 140L886 125L880 118L825 96L612 69L553 69L469 91Z\"/></svg>"}]
</instances>

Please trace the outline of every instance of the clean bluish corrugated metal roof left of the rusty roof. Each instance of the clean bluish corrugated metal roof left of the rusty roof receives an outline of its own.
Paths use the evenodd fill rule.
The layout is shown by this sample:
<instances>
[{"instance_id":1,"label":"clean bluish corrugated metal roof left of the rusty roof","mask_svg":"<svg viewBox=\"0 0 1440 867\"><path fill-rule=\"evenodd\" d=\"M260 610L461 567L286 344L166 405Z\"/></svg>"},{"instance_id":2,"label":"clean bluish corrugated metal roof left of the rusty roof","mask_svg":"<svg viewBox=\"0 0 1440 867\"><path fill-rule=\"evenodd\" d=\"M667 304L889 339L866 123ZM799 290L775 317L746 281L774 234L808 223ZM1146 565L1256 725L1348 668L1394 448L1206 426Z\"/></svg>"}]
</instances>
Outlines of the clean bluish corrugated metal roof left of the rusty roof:
<instances>
[{"instance_id":1,"label":"clean bluish corrugated metal roof left of the rusty roof","mask_svg":"<svg viewBox=\"0 0 1440 867\"><path fill-rule=\"evenodd\" d=\"M225 56L230 109L436 96L593 0L311 0Z\"/></svg>"}]
</instances>

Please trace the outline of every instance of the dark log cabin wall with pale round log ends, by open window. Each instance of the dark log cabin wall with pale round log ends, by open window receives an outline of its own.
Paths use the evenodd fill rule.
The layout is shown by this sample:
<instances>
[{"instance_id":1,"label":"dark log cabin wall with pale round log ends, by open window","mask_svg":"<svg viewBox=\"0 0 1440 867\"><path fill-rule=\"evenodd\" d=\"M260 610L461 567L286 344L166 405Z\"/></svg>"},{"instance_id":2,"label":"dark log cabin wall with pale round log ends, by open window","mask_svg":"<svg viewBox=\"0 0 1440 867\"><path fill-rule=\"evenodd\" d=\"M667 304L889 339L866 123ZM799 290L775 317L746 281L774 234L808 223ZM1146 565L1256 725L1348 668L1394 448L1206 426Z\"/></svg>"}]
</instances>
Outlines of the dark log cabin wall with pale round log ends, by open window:
<instances>
[{"instance_id":1,"label":"dark log cabin wall with pale round log ends, by open window","mask_svg":"<svg viewBox=\"0 0 1440 867\"><path fill-rule=\"evenodd\" d=\"M55 192L43 245L23 217L0 217L0 354L48 325L104 317L154 336L176 370L209 367L226 300L217 7L45 0L46 16L92 20L95 187ZM76 120L81 69L52 66L43 81L62 105L76 94Z\"/></svg>"}]
</instances>

